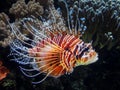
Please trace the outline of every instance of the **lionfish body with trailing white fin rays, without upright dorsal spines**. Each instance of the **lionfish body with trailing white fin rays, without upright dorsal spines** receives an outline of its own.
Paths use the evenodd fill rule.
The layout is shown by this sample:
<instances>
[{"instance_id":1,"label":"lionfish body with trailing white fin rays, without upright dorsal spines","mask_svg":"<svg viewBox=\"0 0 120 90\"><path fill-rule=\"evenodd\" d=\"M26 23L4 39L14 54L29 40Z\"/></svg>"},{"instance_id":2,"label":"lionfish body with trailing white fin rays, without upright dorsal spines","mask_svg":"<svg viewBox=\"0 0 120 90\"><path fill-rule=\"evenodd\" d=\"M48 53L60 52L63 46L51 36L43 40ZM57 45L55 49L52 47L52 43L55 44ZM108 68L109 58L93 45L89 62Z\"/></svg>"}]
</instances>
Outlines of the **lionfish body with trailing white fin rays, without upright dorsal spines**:
<instances>
[{"instance_id":1,"label":"lionfish body with trailing white fin rays, without upright dorsal spines","mask_svg":"<svg viewBox=\"0 0 120 90\"><path fill-rule=\"evenodd\" d=\"M15 25L11 27L12 30L17 30ZM48 76L57 78L64 74L70 74L75 67L88 65L98 60L98 54L92 48L91 43L85 43L77 34L67 33L67 30L51 32L47 29L47 33L42 33L33 26L30 25L30 27L32 27L29 28L31 33L32 30L35 31L33 35L36 38L33 40L25 36L24 38L34 43L30 44L20 39L13 31L17 39L10 47L11 55L14 57L12 60L25 66L25 68L20 66L24 75L27 77L37 77L42 73L46 75L42 80L33 82L34 84L44 81ZM30 66L32 69L26 68L26 66ZM37 73L29 74L34 71Z\"/></svg>"}]
</instances>

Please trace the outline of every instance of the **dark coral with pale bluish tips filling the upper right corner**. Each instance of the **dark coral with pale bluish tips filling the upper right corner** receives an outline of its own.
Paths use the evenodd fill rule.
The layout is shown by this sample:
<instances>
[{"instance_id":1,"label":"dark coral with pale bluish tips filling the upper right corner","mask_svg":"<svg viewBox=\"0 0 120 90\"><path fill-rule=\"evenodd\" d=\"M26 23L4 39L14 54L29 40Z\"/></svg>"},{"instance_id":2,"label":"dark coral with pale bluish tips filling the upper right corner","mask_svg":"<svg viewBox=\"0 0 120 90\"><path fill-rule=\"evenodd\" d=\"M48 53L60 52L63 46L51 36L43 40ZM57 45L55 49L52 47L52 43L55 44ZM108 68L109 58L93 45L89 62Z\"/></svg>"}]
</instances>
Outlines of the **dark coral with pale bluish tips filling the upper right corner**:
<instances>
[{"instance_id":1,"label":"dark coral with pale bluish tips filling the upper right corner","mask_svg":"<svg viewBox=\"0 0 120 90\"><path fill-rule=\"evenodd\" d=\"M67 2L70 11L72 9L79 10L79 17L86 19L87 30L82 37L84 41L90 42L92 40L94 47L99 50L105 47L108 47L108 50L114 47L119 48L119 0L67 0Z\"/></svg>"}]
</instances>

